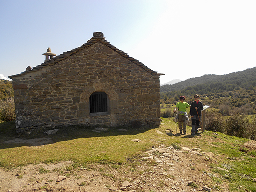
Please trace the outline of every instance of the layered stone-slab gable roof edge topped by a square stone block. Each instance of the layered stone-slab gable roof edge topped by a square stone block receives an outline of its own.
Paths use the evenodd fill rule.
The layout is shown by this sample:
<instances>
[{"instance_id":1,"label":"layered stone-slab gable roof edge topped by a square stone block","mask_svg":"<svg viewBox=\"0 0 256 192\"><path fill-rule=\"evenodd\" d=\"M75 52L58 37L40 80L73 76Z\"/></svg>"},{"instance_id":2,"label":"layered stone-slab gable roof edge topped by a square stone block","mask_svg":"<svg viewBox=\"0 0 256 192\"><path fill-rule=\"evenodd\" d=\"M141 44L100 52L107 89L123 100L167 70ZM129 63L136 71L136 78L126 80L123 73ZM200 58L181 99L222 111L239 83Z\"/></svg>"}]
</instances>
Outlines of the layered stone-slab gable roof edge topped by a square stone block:
<instances>
[{"instance_id":1,"label":"layered stone-slab gable roof edge topped by a square stone block","mask_svg":"<svg viewBox=\"0 0 256 192\"><path fill-rule=\"evenodd\" d=\"M95 33L100 33L100 32L95 32ZM141 68L143 68L144 70L146 70L148 73L150 73L153 76L160 76L160 75L164 75L164 74L160 74L156 71L151 70L150 68L148 68L147 66L145 66L143 63L139 62L137 59L134 59L133 57L130 57L128 54L126 54L125 52L119 50L118 48L116 48L115 46L111 45L108 41L105 40L105 37L103 37L103 33L102 35L95 35L94 33L94 37L92 37L90 40L88 40L85 44L83 44L82 46L72 49L70 51L67 52L63 52L63 54L57 55L56 57L49 59L48 61L45 61L44 63L42 63L41 65L38 65L36 67L33 67L31 70L26 70L20 74L17 75L12 75L9 76L9 78L13 78L13 77L17 77L17 76L22 76L26 73L30 73L30 72L34 72L36 70L40 70L43 67L49 66L49 65L55 65L56 63L58 63L59 61L62 61L63 59L66 59L67 57L70 57L73 54L76 54L77 52L79 52L80 50L87 48L97 42L100 42L106 46L108 46L109 48L111 48L112 50L114 50L115 52L117 52L119 55L121 55L122 57L128 59L129 61L131 61L132 63L140 66ZM96 37L95 37L96 36Z\"/></svg>"}]
</instances>

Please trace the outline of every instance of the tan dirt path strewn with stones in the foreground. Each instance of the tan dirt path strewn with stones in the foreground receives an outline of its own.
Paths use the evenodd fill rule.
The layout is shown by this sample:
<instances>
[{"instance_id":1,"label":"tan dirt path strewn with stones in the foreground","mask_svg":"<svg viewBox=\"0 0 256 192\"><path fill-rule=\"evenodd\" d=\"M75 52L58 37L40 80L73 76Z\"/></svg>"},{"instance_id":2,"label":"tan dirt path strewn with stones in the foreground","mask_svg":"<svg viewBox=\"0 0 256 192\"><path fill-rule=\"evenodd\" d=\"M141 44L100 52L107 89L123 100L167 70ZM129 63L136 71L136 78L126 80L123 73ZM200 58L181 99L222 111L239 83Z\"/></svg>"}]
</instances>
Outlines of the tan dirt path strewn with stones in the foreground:
<instances>
[{"instance_id":1,"label":"tan dirt path strewn with stones in the foreground","mask_svg":"<svg viewBox=\"0 0 256 192\"><path fill-rule=\"evenodd\" d=\"M128 167L102 164L74 167L70 161L30 164L8 171L0 169L0 191L196 192L202 191L203 186L210 186L211 191L221 188L227 192L225 183L217 186L211 180L215 175L209 164L217 163L218 158L221 157L200 149L175 150L172 146L157 146ZM59 176L66 178L57 182Z\"/></svg>"}]
</instances>

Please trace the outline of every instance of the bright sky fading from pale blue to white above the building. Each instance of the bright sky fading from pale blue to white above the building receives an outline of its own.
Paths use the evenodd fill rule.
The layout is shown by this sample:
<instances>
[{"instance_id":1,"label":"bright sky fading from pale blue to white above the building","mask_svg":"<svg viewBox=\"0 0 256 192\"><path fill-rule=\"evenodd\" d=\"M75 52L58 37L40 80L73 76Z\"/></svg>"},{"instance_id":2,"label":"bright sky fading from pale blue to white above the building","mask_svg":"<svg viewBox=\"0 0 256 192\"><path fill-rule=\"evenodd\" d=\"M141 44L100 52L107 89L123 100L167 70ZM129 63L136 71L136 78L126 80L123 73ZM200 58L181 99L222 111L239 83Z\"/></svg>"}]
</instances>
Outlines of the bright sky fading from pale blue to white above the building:
<instances>
[{"instance_id":1,"label":"bright sky fading from pale blue to white above the building","mask_svg":"<svg viewBox=\"0 0 256 192\"><path fill-rule=\"evenodd\" d=\"M101 31L160 83L256 66L255 0L0 0L0 78Z\"/></svg>"}]
</instances>

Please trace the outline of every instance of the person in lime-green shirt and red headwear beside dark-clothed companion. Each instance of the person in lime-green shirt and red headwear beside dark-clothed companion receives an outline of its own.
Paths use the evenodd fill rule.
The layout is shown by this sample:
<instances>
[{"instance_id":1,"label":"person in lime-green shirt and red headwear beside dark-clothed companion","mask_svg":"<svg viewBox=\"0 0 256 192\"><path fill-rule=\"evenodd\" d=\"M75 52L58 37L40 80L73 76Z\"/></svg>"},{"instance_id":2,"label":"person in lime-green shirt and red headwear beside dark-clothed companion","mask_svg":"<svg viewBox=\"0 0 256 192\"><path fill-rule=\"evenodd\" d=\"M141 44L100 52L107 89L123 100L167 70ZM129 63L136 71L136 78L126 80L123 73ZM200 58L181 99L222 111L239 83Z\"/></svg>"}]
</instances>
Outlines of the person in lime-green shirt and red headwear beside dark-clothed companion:
<instances>
[{"instance_id":1,"label":"person in lime-green shirt and red headwear beside dark-clothed companion","mask_svg":"<svg viewBox=\"0 0 256 192\"><path fill-rule=\"evenodd\" d=\"M186 124L188 122L188 116L186 112L187 107L190 107L190 105L187 102L185 102L185 96L180 96L180 102L176 104L176 107L173 110L174 113L178 111L176 116L178 116L178 125L180 129L180 134L182 134L182 131L183 131L184 135L186 135L186 129L187 129Z\"/></svg>"}]
</instances>

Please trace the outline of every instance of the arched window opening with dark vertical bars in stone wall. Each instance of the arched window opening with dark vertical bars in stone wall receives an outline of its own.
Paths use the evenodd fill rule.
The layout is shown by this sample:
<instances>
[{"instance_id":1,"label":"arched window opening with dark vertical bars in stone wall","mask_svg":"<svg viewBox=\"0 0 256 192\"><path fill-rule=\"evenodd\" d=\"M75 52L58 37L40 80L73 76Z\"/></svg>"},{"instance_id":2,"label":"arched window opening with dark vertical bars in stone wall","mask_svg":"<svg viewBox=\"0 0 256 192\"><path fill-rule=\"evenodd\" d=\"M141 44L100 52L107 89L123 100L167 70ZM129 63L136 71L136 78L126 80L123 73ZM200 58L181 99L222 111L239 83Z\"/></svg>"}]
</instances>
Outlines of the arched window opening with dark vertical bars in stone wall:
<instances>
[{"instance_id":1,"label":"arched window opening with dark vertical bars in stone wall","mask_svg":"<svg viewBox=\"0 0 256 192\"><path fill-rule=\"evenodd\" d=\"M90 99L90 113L108 112L108 95L105 92L94 92Z\"/></svg>"}]
</instances>

